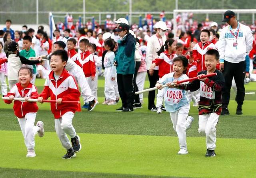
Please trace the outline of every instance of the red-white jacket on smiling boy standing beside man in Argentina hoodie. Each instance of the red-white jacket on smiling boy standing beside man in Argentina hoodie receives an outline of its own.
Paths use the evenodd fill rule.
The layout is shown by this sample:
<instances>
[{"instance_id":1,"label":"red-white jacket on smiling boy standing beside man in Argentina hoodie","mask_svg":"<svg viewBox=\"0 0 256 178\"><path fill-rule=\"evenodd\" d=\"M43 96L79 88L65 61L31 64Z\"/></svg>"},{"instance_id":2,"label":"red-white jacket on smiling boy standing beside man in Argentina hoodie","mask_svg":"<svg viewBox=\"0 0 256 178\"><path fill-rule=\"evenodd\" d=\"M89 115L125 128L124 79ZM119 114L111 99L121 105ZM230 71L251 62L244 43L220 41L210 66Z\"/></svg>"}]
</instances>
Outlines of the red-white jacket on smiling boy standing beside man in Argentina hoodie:
<instances>
[{"instance_id":1,"label":"red-white jacket on smiling boy standing beside man in Argentina hoodie","mask_svg":"<svg viewBox=\"0 0 256 178\"><path fill-rule=\"evenodd\" d=\"M199 43L196 43L196 45L194 46L192 56L194 61L199 61L197 63L198 72L202 70L206 70L206 67L204 65L204 57L205 57L205 53L209 49L216 49L215 45L209 41L206 43L199 42Z\"/></svg>"}]
</instances>

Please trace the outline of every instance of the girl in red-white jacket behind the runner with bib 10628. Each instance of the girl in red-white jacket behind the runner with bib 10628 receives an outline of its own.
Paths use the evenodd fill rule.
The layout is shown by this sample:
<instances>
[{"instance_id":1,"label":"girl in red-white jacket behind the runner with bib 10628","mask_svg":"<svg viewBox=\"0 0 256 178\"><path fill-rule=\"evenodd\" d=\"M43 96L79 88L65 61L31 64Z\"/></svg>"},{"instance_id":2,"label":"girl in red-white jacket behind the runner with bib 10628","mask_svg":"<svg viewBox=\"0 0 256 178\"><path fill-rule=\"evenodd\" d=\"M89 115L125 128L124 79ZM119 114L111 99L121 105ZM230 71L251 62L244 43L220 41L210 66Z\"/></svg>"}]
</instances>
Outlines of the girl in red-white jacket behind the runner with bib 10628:
<instances>
[{"instance_id":1,"label":"girl in red-white jacket behind the runner with bib 10628","mask_svg":"<svg viewBox=\"0 0 256 178\"><path fill-rule=\"evenodd\" d=\"M159 66L159 79L162 78L165 74L172 72L172 60L176 57L176 41L174 39L168 39L165 41L164 46L157 52L158 58L152 61L152 65L150 66L149 73L154 70L154 67ZM163 90L158 90L156 96L156 113L162 113L163 108L163 98L164 92Z\"/></svg>"}]
</instances>

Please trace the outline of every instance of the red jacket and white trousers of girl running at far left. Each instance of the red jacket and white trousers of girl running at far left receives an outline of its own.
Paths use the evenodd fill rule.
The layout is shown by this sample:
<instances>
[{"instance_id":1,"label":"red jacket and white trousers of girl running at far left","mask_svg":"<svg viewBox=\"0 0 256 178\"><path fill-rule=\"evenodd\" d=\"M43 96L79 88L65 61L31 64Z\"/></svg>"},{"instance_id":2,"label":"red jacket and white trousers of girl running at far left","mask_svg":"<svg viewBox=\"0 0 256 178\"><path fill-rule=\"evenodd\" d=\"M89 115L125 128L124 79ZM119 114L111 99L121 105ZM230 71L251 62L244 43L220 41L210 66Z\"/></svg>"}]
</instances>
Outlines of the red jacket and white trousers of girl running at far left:
<instances>
[{"instance_id":1,"label":"red jacket and white trousers of girl running at far left","mask_svg":"<svg viewBox=\"0 0 256 178\"><path fill-rule=\"evenodd\" d=\"M25 88L23 88L20 83L16 83L11 91L7 93L6 97L11 95L15 98L30 97L32 99L37 99L39 96L36 87L31 83ZM6 104L12 103L10 100L4 100L4 102ZM18 118L27 149L34 149L35 135L40 129L38 126L34 126L36 112L38 111L36 102L14 101L13 110Z\"/></svg>"}]
</instances>

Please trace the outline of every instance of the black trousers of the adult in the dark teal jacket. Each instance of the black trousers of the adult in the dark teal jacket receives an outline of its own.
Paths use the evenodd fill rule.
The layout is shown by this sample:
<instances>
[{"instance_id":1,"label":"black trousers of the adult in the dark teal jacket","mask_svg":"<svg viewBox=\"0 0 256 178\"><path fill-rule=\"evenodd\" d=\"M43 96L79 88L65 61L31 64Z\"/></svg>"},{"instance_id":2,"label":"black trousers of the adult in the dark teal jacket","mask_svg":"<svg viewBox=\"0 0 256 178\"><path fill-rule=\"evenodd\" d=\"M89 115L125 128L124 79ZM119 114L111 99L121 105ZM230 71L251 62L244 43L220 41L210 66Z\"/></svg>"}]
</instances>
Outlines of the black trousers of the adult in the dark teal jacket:
<instances>
[{"instance_id":1,"label":"black trousers of the adult in the dark teal jacket","mask_svg":"<svg viewBox=\"0 0 256 178\"><path fill-rule=\"evenodd\" d=\"M133 74L117 74L117 85L123 108L133 108L134 88Z\"/></svg>"}]
</instances>

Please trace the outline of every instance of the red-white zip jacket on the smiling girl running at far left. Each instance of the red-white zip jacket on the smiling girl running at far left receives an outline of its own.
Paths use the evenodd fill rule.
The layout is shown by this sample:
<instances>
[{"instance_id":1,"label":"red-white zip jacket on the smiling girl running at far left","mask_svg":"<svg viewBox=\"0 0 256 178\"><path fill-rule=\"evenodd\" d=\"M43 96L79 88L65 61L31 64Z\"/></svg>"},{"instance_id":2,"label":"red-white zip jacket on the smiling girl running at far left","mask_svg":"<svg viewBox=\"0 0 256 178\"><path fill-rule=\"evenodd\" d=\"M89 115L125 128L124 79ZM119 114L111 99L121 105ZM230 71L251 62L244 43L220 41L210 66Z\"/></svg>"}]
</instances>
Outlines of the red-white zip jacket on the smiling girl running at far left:
<instances>
[{"instance_id":1,"label":"red-white zip jacket on the smiling girl running at far left","mask_svg":"<svg viewBox=\"0 0 256 178\"><path fill-rule=\"evenodd\" d=\"M36 87L31 83L29 83L26 88L23 88L20 83L16 83L5 97L9 97L11 95L15 98L30 97L32 99L37 99L39 96ZM4 102L7 104L12 103L11 100L4 100ZM26 113L37 112L38 106L36 102L14 101L13 110L14 114L18 118L23 118L25 117Z\"/></svg>"}]
</instances>

